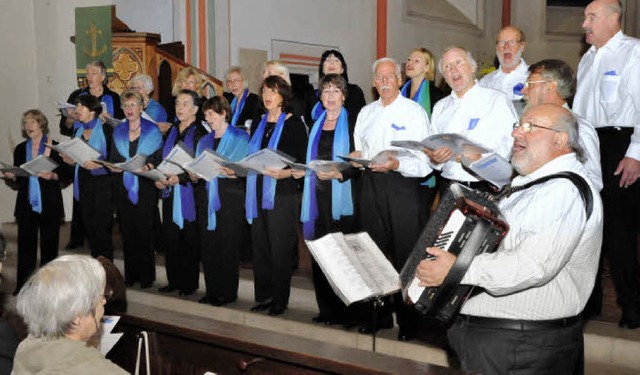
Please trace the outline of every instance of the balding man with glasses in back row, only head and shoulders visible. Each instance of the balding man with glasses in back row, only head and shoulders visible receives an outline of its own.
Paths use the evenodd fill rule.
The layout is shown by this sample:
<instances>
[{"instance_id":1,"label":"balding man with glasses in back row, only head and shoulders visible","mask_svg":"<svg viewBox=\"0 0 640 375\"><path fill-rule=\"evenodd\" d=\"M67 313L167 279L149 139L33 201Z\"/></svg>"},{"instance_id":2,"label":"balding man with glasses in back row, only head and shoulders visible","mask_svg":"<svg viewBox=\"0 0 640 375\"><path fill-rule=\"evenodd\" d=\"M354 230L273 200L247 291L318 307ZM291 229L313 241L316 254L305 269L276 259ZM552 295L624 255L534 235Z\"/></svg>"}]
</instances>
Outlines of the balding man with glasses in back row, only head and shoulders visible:
<instances>
[{"instance_id":1,"label":"balding man with glasses in back row, only head and shoulders visible","mask_svg":"<svg viewBox=\"0 0 640 375\"><path fill-rule=\"evenodd\" d=\"M496 56L500 66L478 82L482 87L503 92L513 101L522 100L522 88L527 79L527 63L522 58L524 33L515 26L505 26L496 37Z\"/></svg>"}]
</instances>

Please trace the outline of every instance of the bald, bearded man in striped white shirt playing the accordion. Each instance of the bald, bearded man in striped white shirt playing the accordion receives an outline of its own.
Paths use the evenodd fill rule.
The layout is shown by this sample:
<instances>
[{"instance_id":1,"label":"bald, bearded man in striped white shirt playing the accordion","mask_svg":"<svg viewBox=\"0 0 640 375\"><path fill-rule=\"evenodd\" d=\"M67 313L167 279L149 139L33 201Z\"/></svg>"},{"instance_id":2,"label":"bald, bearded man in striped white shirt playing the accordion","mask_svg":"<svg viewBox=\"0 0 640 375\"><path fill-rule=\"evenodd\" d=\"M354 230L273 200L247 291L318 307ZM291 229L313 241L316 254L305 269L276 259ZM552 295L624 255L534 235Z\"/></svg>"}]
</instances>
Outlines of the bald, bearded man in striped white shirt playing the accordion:
<instances>
[{"instance_id":1,"label":"bald, bearded man in striped white shirt playing the accordion","mask_svg":"<svg viewBox=\"0 0 640 375\"><path fill-rule=\"evenodd\" d=\"M579 373L580 312L598 269L602 202L576 156L578 124L569 110L532 107L514 127L511 164L519 174L514 188L574 172L588 185L587 198L571 181L555 178L499 202L509 232L495 253L471 262L461 284L484 291L462 306L448 331L449 343L465 371ZM439 286L456 257L437 247L427 252L436 258L420 262L417 276L421 285Z\"/></svg>"}]
</instances>

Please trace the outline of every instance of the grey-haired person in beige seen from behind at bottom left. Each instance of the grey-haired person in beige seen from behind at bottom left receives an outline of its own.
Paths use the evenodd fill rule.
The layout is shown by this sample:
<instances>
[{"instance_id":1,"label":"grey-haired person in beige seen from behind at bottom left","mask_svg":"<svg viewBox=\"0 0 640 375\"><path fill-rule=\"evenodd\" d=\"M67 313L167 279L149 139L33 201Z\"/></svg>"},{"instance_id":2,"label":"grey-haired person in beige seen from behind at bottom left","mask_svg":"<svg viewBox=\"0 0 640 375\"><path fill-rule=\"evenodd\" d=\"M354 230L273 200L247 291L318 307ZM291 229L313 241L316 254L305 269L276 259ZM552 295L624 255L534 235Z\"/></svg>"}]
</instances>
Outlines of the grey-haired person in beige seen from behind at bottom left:
<instances>
[{"instance_id":1,"label":"grey-haired person in beige seen from behind at bottom left","mask_svg":"<svg viewBox=\"0 0 640 375\"><path fill-rule=\"evenodd\" d=\"M29 336L13 373L127 374L87 345L104 315L105 285L104 268L86 255L65 255L38 270L18 295Z\"/></svg>"}]
</instances>

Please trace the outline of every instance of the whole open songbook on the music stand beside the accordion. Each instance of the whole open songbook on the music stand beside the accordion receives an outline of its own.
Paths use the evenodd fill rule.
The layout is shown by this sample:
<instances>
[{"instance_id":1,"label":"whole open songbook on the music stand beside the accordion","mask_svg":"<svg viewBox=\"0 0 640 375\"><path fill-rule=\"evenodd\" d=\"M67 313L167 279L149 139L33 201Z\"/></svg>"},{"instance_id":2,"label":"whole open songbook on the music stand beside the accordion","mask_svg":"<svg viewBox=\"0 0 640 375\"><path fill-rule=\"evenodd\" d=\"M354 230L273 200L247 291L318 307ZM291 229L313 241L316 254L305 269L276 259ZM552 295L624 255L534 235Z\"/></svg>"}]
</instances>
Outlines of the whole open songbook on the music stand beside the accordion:
<instances>
[{"instance_id":1,"label":"whole open songbook on the music stand beside the accordion","mask_svg":"<svg viewBox=\"0 0 640 375\"><path fill-rule=\"evenodd\" d=\"M366 232L305 241L329 284L347 305L400 290L400 276Z\"/></svg>"}]
</instances>

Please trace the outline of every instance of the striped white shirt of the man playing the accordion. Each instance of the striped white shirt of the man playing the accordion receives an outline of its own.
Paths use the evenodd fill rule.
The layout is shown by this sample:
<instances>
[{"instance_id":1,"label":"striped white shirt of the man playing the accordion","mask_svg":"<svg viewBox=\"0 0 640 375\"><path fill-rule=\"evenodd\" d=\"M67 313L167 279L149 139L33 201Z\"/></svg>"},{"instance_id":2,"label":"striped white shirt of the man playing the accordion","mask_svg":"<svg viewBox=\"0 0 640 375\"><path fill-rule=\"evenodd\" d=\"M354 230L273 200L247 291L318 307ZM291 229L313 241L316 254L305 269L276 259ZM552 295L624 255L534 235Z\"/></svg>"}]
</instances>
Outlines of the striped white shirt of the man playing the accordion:
<instances>
[{"instance_id":1,"label":"striped white shirt of the man playing the accordion","mask_svg":"<svg viewBox=\"0 0 640 375\"><path fill-rule=\"evenodd\" d=\"M513 186L571 171L589 184L574 153L562 155ZM510 229L493 254L477 256L462 284L484 292L470 298L462 313L506 319L546 320L579 314L593 288L602 243L602 201L590 185L593 212L586 221L578 189L554 179L513 193L499 203ZM585 223L586 221L586 223Z\"/></svg>"}]
</instances>

